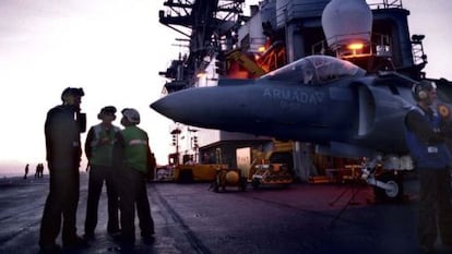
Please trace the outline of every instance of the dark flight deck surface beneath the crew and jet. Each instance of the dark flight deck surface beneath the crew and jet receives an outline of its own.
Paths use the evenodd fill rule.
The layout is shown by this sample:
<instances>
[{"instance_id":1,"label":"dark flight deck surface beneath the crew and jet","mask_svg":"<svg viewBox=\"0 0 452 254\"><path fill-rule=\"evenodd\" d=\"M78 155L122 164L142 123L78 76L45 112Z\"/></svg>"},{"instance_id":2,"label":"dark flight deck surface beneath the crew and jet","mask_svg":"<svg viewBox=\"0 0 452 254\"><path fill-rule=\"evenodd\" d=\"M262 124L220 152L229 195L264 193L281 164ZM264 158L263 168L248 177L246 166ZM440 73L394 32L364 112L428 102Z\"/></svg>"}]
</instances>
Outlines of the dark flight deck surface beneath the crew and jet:
<instances>
[{"instance_id":1,"label":"dark flight deck surface beneath the crew and jet","mask_svg":"<svg viewBox=\"0 0 452 254\"><path fill-rule=\"evenodd\" d=\"M146 245L136 228L133 253L418 253L416 179L405 180L407 197L400 204L376 204L367 184L295 183L284 189L248 186L246 192L229 189L222 193L210 186L150 183L156 238ZM38 253L48 176L2 179L0 190L0 253ZM79 233L83 232L86 190L87 174L82 173ZM95 240L88 249L63 253L121 253L106 232L106 219L103 193Z\"/></svg>"}]
</instances>

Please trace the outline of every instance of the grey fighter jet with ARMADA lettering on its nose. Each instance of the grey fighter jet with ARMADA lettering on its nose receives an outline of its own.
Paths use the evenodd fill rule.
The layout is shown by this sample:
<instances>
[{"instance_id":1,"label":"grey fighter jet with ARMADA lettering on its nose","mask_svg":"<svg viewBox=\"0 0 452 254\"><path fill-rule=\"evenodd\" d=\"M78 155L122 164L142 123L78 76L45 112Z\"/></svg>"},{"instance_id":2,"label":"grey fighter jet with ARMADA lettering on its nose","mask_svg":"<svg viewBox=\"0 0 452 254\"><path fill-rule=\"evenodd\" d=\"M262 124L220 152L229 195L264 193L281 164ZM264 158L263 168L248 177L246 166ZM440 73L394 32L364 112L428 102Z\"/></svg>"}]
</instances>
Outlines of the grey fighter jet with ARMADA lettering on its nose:
<instances>
[{"instance_id":1,"label":"grey fighter jet with ARMADA lettering on its nose","mask_svg":"<svg viewBox=\"0 0 452 254\"><path fill-rule=\"evenodd\" d=\"M415 82L392 71L368 74L346 60L309 56L255 80L219 80L217 86L171 93L151 108L188 125L311 142L333 156L405 158L404 117L415 104ZM448 116L452 93L445 89L438 87L438 107ZM400 196L399 185L366 178Z\"/></svg>"}]
</instances>

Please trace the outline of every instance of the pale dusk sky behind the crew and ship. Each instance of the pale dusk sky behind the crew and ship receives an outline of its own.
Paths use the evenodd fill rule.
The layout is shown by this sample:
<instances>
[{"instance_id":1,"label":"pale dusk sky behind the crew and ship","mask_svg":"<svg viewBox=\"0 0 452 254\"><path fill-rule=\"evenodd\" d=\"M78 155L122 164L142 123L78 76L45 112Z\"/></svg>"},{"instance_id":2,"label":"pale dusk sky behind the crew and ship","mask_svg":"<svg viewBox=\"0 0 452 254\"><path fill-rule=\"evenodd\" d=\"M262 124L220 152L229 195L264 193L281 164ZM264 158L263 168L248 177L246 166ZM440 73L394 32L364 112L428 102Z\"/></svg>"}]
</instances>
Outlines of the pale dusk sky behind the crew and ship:
<instances>
[{"instance_id":1,"label":"pale dusk sky behind the crew and ship","mask_svg":"<svg viewBox=\"0 0 452 254\"><path fill-rule=\"evenodd\" d=\"M84 88L82 109L88 126L98 123L96 116L104 106L136 108L158 164L166 164L174 150L173 121L148 105L160 97L165 78L158 72L177 58L180 48L171 45L181 36L158 23L163 2L0 1L0 177L23 173L27 162L34 172L36 164L46 162L44 121L47 111L61 104L68 86ZM427 76L452 80L452 1L403 4L411 11L411 34L426 35Z\"/></svg>"}]
</instances>

